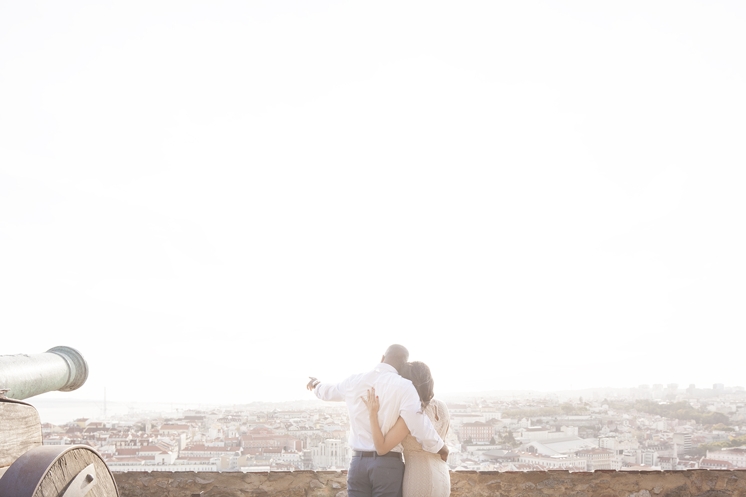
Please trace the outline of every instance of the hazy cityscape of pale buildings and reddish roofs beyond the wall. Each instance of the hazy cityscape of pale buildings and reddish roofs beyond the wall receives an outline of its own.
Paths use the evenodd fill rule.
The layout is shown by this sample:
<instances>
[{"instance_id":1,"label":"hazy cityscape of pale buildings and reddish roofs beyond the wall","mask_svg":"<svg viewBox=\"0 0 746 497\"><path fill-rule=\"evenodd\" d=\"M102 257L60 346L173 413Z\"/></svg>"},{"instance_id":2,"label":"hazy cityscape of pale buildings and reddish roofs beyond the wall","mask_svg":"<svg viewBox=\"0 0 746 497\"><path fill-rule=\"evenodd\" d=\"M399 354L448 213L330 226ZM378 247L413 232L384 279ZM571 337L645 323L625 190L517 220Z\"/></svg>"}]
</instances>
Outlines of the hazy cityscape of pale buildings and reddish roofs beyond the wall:
<instances>
[{"instance_id":1,"label":"hazy cityscape of pale buildings and reddish roofs beyond the wall","mask_svg":"<svg viewBox=\"0 0 746 497\"><path fill-rule=\"evenodd\" d=\"M746 469L746 390L713 384L599 388L587 396L453 396L452 471ZM44 421L44 420L42 420ZM42 426L44 445L93 446L112 471L340 470L343 402L176 409Z\"/></svg>"}]
</instances>

